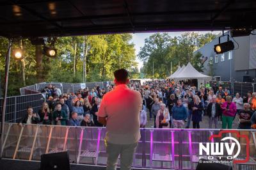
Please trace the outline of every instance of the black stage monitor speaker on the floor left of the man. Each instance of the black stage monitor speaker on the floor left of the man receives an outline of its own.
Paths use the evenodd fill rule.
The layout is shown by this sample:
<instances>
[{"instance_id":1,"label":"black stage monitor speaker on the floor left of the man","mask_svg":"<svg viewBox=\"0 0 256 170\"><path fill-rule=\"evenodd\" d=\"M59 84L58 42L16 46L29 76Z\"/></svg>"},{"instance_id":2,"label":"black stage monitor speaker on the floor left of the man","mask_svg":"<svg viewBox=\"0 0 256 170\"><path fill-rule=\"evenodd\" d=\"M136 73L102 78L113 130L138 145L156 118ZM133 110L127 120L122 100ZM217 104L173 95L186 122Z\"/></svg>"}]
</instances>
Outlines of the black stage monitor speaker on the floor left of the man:
<instances>
[{"instance_id":1,"label":"black stage monitor speaker on the floor left of the man","mask_svg":"<svg viewBox=\"0 0 256 170\"><path fill-rule=\"evenodd\" d=\"M41 170L70 170L67 151L41 155Z\"/></svg>"}]
</instances>

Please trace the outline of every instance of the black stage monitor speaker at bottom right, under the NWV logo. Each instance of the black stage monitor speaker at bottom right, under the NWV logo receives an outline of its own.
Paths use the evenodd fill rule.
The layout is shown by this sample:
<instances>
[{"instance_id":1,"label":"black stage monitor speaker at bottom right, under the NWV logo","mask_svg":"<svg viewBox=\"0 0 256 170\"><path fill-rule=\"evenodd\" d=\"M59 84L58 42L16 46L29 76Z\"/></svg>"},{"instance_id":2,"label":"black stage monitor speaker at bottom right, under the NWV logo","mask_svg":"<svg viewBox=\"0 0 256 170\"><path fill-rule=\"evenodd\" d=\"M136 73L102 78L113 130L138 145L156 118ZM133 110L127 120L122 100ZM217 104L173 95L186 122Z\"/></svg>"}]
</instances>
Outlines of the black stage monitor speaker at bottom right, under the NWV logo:
<instances>
[{"instance_id":1,"label":"black stage monitor speaker at bottom right, under the NWV logo","mask_svg":"<svg viewBox=\"0 0 256 170\"><path fill-rule=\"evenodd\" d=\"M224 164L218 163L204 163L204 161L208 161L206 159L200 159L202 163L198 163L196 166L196 170L232 170L231 166L227 166Z\"/></svg>"}]
</instances>

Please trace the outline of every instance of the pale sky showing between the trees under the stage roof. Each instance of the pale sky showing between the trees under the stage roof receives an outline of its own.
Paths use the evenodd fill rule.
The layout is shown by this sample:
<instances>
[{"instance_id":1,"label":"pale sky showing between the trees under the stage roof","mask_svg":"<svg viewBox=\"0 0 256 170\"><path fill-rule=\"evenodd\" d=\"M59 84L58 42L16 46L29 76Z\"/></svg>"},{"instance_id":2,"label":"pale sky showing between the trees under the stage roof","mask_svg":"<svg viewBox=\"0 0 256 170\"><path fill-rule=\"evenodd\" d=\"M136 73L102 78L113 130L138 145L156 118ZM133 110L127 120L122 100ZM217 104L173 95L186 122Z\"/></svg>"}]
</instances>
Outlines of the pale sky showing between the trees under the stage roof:
<instances>
[{"instance_id":1,"label":"pale sky showing between the trees under the stage roof","mask_svg":"<svg viewBox=\"0 0 256 170\"><path fill-rule=\"evenodd\" d=\"M195 32L195 31L194 31ZM196 31L199 34L205 34L205 33L214 33L214 34L218 34L221 31ZM169 32L168 34L170 36L180 36L182 35L182 33L185 32ZM136 33L132 35L132 42L135 45L135 52L136 52L136 56L139 54L140 52L140 47L144 46L144 40L145 38L148 38L149 36L153 35L154 33ZM140 61L140 59L138 59L138 57L136 58L136 61L139 63L138 67L139 70L140 68L143 66L143 63Z\"/></svg>"}]
</instances>

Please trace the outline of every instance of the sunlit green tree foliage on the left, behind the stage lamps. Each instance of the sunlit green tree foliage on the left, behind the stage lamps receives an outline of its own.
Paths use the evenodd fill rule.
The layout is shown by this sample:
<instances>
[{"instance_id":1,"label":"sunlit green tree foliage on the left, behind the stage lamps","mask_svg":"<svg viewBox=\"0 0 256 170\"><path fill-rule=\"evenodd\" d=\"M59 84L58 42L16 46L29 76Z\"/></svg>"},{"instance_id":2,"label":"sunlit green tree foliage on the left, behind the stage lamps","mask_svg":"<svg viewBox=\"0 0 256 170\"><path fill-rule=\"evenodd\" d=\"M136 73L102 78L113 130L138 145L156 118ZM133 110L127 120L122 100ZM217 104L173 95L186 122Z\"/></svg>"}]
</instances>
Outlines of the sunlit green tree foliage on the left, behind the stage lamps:
<instances>
[{"instance_id":1,"label":"sunlit green tree foliage on the left, behind the stage lamps","mask_svg":"<svg viewBox=\"0 0 256 170\"><path fill-rule=\"evenodd\" d=\"M138 77L138 63L134 44L131 43L131 34L74 36L61 38L48 38L47 44L55 42L57 49L56 58L43 57L43 79L54 82L83 82L83 59L86 56L86 82L112 81L113 72L126 68L131 72L132 78ZM13 42L13 47L19 47L18 42ZM76 75L74 76L74 54L76 48ZM0 70L1 86L4 82L5 54L8 40L0 38ZM26 85L37 83L35 46L26 39L22 40L25 54ZM121 62L119 62L119 59ZM8 95L19 95L19 88L23 87L21 62L13 58L10 60Z\"/></svg>"}]
</instances>

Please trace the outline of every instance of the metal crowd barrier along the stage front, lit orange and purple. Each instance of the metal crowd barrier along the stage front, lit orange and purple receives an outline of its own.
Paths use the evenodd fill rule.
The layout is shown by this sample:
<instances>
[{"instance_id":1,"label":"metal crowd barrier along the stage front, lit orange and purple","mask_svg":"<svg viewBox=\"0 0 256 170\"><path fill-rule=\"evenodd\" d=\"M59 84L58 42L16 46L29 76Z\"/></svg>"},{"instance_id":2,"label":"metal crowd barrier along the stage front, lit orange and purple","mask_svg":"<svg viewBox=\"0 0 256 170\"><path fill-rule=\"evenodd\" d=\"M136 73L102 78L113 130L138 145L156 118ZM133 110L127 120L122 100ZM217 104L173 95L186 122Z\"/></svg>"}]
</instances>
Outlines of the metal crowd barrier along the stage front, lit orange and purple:
<instances>
[{"instance_id":1,"label":"metal crowd barrier along the stage front, lit orange and purple","mask_svg":"<svg viewBox=\"0 0 256 170\"><path fill-rule=\"evenodd\" d=\"M209 142L209 136L220 129L156 129L141 128L141 139L134 153L133 167L147 169L195 169L199 160L199 143ZM250 161L232 165L236 169L255 168L255 130L239 130L249 137ZM44 153L68 151L70 162L106 166L104 127L65 127L53 125L17 125L4 127L3 158L40 160ZM240 159L246 157L246 143L232 133L241 144ZM212 139L220 142L220 139ZM118 160L120 165L120 160ZM254 167L253 167L254 166Z\"/></svg>"}]
</instances>

